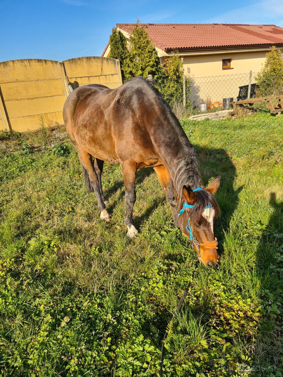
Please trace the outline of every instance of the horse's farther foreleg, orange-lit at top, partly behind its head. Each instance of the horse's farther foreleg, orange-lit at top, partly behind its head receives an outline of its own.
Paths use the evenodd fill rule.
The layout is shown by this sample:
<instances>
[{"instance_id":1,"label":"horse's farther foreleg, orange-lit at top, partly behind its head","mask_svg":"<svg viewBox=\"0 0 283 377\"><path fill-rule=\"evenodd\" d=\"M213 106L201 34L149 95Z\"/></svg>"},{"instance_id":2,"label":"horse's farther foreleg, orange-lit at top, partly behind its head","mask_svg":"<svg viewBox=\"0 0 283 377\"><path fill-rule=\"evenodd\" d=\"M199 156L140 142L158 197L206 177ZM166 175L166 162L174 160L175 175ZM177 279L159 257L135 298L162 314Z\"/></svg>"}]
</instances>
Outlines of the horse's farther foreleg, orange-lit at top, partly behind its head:
<instances>
[{"instance_id":1,"label":"horse's farther foreleg, orange-lit at top, partly behind its head","mask_svg":"<svg viewBox=\"0 0 283 377\"><path fill-rule=\"evenodd\" d=\"M162 189L165 191L166 199L170 205L175 227L178 228L178 206L174 195L173 181L164 165L154 168L158 175Z\"/></svg>"}]
</instances>

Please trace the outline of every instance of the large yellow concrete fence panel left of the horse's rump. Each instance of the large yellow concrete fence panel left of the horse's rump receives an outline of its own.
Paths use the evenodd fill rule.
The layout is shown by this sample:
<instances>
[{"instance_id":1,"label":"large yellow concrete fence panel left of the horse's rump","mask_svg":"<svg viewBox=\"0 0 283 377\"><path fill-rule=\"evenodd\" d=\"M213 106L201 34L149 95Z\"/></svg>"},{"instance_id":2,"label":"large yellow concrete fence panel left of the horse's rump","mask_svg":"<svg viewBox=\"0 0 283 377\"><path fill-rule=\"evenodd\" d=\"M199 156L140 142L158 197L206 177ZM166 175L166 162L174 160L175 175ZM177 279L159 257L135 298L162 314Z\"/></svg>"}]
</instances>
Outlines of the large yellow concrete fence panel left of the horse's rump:
<instances>
[{"instance_id":1,"label":"large yellow concrete fence panel left of the horse's rump","mask_svg":"<svg viewBox=\"0 0 283 377\"><path fill-rule=\"evenodd\" d=\"M37 129L41 115L47 124L63 123L65 92L57 61L25 59L0 63L0 89L10 129Z\"/></svg>"}]
</instances>

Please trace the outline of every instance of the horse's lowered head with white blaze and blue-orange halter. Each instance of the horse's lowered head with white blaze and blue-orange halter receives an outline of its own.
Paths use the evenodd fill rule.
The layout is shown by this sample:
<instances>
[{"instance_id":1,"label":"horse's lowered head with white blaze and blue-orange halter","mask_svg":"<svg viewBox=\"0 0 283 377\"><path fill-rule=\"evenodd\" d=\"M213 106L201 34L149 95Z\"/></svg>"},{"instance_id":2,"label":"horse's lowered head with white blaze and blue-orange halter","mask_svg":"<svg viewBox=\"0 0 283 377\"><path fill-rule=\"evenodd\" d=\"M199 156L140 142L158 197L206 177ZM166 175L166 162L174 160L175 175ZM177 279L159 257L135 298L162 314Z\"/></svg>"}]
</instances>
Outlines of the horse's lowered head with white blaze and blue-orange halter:
<instances>
[{"instance_id":1,"label":"horse's lowered head with white blaze and blue-orange halter","mask_svg":"<svg viewBox=\"0 0 283 377\"><path fill-rule=\"evenodd\" d=\"M219 185L220 177L215 178L206 189L198 187L192 190L184 186L178 218L179 228L189 236L198 258L208 268L219 268L217 239L214 237L219 209L213 196Z\"/></svg>"}]
</instances>

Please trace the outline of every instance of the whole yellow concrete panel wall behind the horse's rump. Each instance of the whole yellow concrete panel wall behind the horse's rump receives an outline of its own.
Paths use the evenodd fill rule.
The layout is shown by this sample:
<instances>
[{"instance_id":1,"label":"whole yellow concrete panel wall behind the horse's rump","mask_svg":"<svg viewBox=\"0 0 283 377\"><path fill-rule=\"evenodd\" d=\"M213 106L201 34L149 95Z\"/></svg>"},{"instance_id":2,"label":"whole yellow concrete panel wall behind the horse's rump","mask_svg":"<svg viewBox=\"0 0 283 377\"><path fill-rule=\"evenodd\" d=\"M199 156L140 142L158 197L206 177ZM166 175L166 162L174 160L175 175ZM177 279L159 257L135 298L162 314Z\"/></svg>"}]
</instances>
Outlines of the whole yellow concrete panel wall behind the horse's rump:
<instances>
[{"instance_id":1,"label":"whole yellow concrete panel wall behind the horse's rump","mask_svg":"<svg viewBox=\"0 0 283 377\"><path fill-rule=\"evenodd\" d=\"M74 87L102 83L122 84L116 59L85 57L66 60L25 59L0 63L0 129L34 130L63 123L62 109L68 95L66 77Z\"/></svg>"}]
</instances>

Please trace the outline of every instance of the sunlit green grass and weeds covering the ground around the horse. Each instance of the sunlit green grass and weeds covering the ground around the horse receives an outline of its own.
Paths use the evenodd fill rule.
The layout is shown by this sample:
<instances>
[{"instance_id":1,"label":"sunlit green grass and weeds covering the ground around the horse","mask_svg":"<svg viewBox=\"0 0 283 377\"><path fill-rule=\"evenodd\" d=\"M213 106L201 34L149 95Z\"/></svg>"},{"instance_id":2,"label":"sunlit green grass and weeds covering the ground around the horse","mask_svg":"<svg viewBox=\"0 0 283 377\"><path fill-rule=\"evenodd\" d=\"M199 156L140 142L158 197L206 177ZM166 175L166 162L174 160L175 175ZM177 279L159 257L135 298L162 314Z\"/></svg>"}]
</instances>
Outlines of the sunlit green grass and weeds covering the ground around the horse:
<instances>
[{"instance_id":1,"label":"sunlit green grass and weeds covering the ground around the horse","mask_svg":"<svg viewBox=\"0 0 283 377\"><path fill-rule=\"evenodd\" d=\"M282 119L181 123L205 184L221 175L218 271L174 228L152 169L128 239L119 166L103 170L108 225L62 130L0 135L1 375L158 376L191 281L164 375L282 376Z\"/></svg>"}]
</instances>

